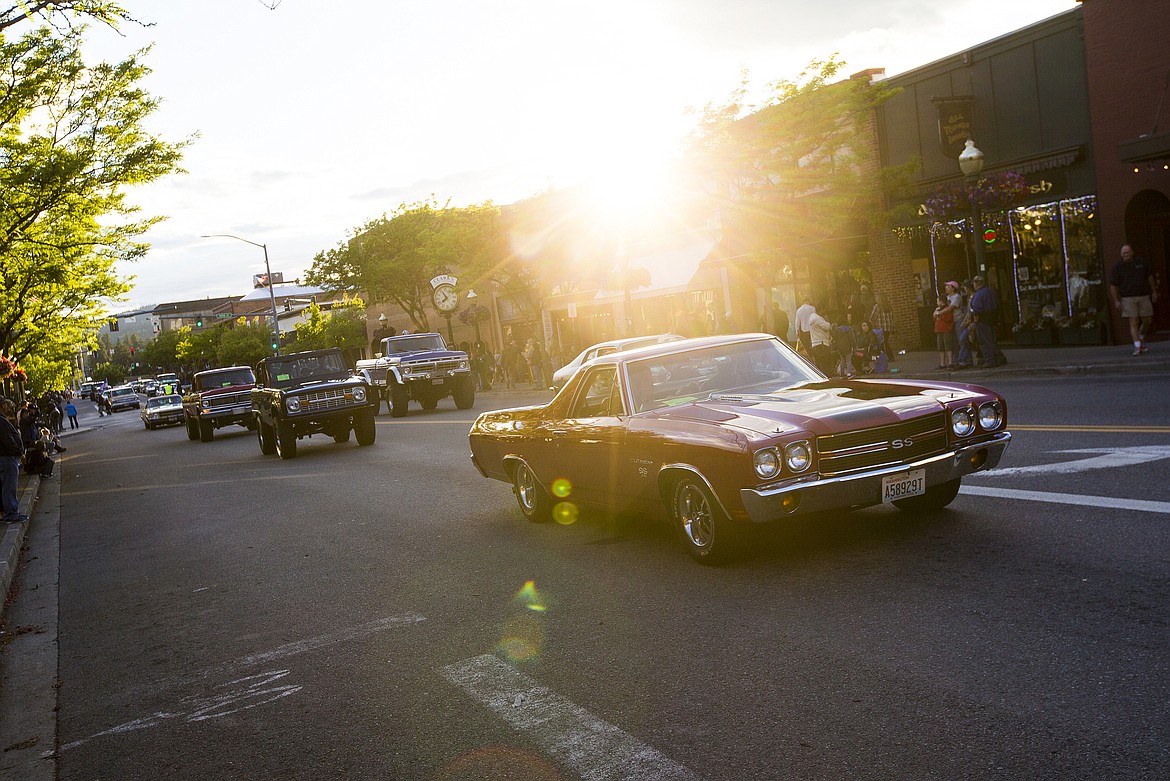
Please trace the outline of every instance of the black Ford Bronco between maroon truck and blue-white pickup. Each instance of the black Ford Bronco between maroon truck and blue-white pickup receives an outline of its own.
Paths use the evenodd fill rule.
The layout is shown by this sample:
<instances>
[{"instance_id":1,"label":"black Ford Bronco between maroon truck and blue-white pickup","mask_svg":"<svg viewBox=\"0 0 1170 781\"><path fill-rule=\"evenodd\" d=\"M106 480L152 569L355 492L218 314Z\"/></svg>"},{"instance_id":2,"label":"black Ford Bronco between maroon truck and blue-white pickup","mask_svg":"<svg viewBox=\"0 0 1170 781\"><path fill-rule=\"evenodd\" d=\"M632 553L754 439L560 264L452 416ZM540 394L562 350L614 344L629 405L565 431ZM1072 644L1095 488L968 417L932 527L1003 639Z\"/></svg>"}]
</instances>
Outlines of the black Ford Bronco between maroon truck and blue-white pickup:
<instances>
[{"instance_id":1,"label":"black Ford Bronco between maroon truck and blue-white pickup","mask_svg":"<svg viewBox=\"0 0 1170 781\"><path fill-rule=\"evenodd\" d=\"M252 412L262 454L296 457L296 441L324 434L373 444L377 390L345 365L342 351L310 350L273 355L256 365Z\"/></svg>"}]
</instances>

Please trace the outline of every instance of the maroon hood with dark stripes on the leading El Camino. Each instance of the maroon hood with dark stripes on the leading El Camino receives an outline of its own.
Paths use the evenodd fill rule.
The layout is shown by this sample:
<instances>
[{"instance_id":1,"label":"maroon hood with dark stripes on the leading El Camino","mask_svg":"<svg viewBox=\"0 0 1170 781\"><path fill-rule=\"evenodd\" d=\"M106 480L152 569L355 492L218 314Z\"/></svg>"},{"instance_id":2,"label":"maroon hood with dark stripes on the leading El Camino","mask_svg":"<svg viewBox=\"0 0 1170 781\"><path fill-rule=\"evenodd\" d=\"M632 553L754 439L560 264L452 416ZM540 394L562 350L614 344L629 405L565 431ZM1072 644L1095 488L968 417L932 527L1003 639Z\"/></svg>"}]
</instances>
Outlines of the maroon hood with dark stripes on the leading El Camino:
<instances>
[{"instance_id":1,"label":"maroon hood with dark stripes on the leading El Camino","mask_svg":"<svg viewBox=\"0 0 1170 781\"><path fill-rule=\"evenodd\" d=\"M944 401L976 395L961 385L942 382L828 381L768 394L723 394L660 414L735 426L760 435L797 429L825 435L941 412Z\"/></svg>"}]
</instances>

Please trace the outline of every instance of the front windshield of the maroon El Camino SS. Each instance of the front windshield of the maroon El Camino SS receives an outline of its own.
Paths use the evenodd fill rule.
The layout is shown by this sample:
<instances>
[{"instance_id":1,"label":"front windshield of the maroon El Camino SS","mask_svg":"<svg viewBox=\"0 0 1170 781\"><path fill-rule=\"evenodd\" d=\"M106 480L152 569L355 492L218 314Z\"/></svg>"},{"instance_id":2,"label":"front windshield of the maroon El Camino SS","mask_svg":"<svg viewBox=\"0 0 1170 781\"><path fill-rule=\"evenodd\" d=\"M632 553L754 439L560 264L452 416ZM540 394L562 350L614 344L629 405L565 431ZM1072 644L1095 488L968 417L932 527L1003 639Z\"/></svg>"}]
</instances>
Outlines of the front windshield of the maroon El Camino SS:
<instances>
[{"instance_id":1,"label":"front windshield of the maroon El Camino SS","mask_svg":"<svg viewBox=\"0 0 1170 781\"><path fill-rule=\"evenodd\" d=\"M673 407L720 394L763 394L824 379L779 341L717 345L631 361L636 412Z\"/></svg>"}]
</instances>

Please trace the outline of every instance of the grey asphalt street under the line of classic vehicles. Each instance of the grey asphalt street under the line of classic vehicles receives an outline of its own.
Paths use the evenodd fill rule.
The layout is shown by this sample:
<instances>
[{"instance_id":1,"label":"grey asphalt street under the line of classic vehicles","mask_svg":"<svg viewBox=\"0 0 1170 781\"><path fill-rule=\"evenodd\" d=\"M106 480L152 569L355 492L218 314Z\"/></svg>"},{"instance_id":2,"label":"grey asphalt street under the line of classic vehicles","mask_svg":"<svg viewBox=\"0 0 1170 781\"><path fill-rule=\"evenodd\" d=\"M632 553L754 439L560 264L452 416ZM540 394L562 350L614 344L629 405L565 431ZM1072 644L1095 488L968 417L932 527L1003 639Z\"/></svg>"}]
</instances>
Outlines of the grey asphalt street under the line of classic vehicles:
<instances>
[{"instance_id":1,"label":"grey asphalt street under the line of classic vehicles","mask_svg":"<svg viewBox=\"0 0 1170 781\"><path fill-rule=\"evenodd\" d=\"M1016 440L945 511L722 568L523 521L466 434L539 395L287 462L103 419L61 464L60 777L1170 777L1165 378L996 387Z\"/></svg>"}]
</instances>

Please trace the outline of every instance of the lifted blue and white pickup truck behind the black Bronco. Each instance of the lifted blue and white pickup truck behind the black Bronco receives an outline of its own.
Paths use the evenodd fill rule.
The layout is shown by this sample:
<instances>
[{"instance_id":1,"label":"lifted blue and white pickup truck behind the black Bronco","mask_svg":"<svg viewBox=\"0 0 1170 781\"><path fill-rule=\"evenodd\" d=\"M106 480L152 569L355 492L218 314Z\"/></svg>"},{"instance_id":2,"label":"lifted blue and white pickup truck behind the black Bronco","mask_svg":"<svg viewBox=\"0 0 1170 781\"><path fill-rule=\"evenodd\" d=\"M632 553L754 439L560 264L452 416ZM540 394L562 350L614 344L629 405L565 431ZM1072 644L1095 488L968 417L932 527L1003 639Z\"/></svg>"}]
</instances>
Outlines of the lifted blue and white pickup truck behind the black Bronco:
<instances>
[{"instance_id":1,"label":"lifted blue and white pickup truck behind the black Bronco","mask_svg":"<svg viewBox=\"0 0 1170 781\"><path fill-rule=\"evenodd\" d=\"M381 340L381 354L356 366L386 400L393 417L406 415L411 401L434 409L447 396L459 409L475 405L475 379L467 353L447 350L441 333L404 333Z\"/></svg>"}]
</instances>

